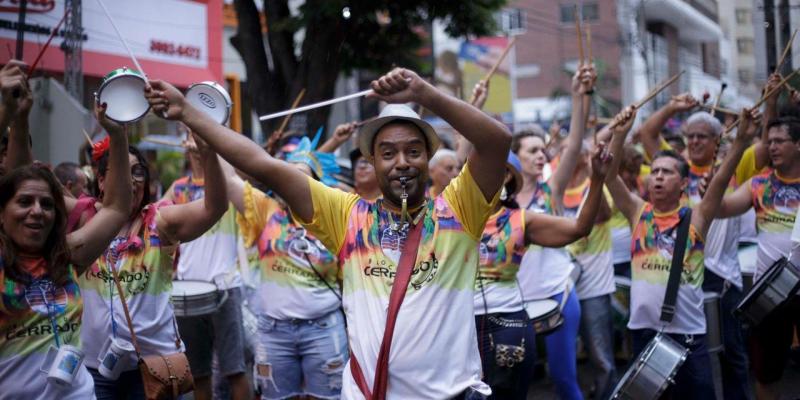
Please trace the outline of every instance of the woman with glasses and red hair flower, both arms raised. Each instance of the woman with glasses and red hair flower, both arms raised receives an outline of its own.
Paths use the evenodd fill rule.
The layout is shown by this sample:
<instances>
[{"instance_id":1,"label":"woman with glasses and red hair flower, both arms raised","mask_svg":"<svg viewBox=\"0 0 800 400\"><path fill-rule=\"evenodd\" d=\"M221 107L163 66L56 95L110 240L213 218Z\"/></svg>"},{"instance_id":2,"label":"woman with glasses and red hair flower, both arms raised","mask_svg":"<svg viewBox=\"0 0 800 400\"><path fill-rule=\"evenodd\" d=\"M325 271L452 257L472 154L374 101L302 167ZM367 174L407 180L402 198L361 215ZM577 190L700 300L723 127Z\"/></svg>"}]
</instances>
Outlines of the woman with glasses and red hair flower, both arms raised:
<instances>
[{"instance_id":1,"label":"woman with glasses and red hair flower, both arms raised","mask_svg":"<svg viewBox=\"0 0 800 400\"><path fill-rule=\"evenodd\" d=\"M123 129L113 122L108 122L107 126L112 130ZM147 160L135 147L128 149L133 190L128 221L108 250L78 282L86 304L81 340L98 397L144 396L142 377L135 362L115 380L101 375L97 369L98 356L107 341L113 337L131 341L110 266L119 274L142 356L184 350L170 305L175 249L181 242L194 240L208 231L225 213L227 204L225 178L216 154L201 141L197 141L197 145L205 173L205 196L182 205L173 205L169 200L151 202ZM108 152L104 146L97 146L95 153L99 156L98 186L103 196L108 183ZM81 216L85 223L91 218L92 210L77 207L72 213L85 213ZM75 214L71 217L75 218ZM109 265L115 259L116 262Z\"/></svg>"}]
</instances>

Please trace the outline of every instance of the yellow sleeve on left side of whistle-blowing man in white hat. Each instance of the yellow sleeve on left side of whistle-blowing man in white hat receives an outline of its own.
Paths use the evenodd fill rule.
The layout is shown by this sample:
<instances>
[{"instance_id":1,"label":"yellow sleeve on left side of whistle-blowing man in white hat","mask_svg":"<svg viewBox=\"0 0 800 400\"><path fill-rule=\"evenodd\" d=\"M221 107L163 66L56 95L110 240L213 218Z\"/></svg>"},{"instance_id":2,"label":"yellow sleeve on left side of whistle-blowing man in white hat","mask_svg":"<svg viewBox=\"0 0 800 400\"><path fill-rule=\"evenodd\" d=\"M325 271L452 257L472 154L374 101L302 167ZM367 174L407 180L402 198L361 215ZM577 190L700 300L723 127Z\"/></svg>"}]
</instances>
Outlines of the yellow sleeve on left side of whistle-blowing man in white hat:
<instances>
[{"instance_id":1,"label":"yellow sleeve on left side of whistle-blowing man in white hat","mask_svg":"<svg viewBox=\"0 0 800 400\"><path fill-rule=\"evenodd\" d=\"M311 221L303 221L292 212L292 216L319 239L333 254L339 254L347 232L350 211L359 197L352 193L330 188L308 178L311 190L311 201L314 205L314 217Z\"/></svg>"}]
</instances>

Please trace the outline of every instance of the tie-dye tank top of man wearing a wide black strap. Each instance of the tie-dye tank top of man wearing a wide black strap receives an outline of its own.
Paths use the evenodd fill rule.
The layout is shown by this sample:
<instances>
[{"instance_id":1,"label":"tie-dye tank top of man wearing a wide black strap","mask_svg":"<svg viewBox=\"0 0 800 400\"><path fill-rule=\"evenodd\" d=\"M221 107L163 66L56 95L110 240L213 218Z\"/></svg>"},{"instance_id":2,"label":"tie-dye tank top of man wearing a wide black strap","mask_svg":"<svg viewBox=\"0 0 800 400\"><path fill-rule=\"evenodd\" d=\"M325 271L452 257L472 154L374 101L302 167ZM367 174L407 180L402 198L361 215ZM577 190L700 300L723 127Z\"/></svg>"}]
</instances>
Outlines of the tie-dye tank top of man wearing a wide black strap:
<instances>
[{"instance_id":1,"label":"tie-dye tank top of man wearing a wide black strap","mask_svg":"<svg viewBox=\"0 0 800 400\"><path fill-rule=\"evenodd\" d=\"M655 329L661 322L661 306L667 291L672 253L678 234L678 223L688 207L659 213L645 203L633 225L631 242L631 315L629 329ZM664 331L687 335L706 333L703 311L703 239L689 225L675 318Z\"/></svg>"}]
</instances>

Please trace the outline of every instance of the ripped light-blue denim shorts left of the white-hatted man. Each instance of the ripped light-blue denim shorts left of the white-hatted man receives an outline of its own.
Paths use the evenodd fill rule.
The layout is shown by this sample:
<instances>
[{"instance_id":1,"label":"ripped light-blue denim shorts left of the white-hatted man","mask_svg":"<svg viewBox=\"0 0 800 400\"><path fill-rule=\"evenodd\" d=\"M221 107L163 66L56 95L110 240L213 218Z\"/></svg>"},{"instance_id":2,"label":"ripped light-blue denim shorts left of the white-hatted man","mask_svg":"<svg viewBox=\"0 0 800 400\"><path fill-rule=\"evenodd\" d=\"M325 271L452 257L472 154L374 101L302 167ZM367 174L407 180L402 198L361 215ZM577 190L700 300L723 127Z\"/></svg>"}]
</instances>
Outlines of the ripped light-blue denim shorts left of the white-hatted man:
<instances>
[{"instance_id":1,"label":"ripped light-blue denim shorts left of the white-hatted man","mask_svg":"<svg viewBox=\"0 0 800 400\"><path fill-rule=\"evenodd\" d=\"M349 357L340 310L312 320L261 315L258 334L254 376L262 399L340 397Z\"/></svg>"}]
</instances>

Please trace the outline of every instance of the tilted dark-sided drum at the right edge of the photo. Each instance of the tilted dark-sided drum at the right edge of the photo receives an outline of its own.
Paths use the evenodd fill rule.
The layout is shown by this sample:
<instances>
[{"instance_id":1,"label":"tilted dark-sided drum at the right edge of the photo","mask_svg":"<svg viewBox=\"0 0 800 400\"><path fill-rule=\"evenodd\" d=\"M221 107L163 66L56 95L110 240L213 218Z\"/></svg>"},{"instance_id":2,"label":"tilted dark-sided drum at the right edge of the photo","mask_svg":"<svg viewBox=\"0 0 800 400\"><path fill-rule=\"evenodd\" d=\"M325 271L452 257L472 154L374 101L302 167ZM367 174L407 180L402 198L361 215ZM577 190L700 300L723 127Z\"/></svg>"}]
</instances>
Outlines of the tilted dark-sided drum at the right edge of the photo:
<instances>
[{"instance_id":1,"label":"tilted dark-sided drum at the right edge of the photo","mask_svg":"<svg viewBox=\"0 0 800 400\"><path fill-rule=\"evenodd\" d=\"M800 289L800 270L786 258L775 261L736 306L734 313L753 326L761 323Z\"/></svg>"}]
</instances>

